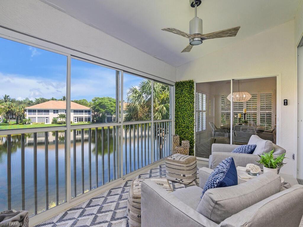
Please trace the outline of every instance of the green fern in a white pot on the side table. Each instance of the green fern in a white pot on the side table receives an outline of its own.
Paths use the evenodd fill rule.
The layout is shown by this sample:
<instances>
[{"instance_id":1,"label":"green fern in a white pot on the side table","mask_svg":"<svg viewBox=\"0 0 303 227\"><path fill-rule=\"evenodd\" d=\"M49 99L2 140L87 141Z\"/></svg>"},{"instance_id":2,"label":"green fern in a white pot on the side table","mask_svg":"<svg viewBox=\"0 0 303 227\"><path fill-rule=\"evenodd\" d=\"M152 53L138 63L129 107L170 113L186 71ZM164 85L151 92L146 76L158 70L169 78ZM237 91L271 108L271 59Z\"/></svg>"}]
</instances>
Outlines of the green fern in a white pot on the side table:
<instances>
[{"instance_id":1,"label":"green fern in a white pot on the side table","mask_svg":"<svg viewBox=\"0 0 303 227\"><path fill-rule=\"evenodd\" d=\"M283 160L286 158L285 153L279 155L278 157L274 158L274 150L259 155L260 160L257 161L260 164L263 164L263 173L272 172L278 174L278 167L282 167L284 164Z\"/></svg>"}]
</instances>

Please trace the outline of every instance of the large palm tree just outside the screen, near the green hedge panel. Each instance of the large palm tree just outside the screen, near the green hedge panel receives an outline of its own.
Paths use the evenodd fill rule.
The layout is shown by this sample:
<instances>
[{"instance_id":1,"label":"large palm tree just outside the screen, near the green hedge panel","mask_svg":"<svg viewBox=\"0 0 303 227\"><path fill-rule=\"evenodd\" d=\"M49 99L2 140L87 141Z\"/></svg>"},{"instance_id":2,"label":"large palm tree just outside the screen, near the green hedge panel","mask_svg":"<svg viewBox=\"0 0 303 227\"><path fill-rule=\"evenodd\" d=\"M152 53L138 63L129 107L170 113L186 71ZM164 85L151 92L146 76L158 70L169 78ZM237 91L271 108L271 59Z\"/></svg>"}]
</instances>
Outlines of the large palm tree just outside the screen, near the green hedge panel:
<instances>
[{"instance_id":1,"label":"large palm tree just outside the screen, near the green hedge panel","mask_svg":"<svg viewBox=\"0 0 303 227\"><path fill-rule=\"evenodd\" d=\"M127 105L125 107L123 116L124 121L143 121L151 120L151 89L152 82L143 80L138 87L131 87L127 93ZM154 120L169 119L169 86L154 82ZM125 126L124 126L125 127ZM126 125L126 130L137 130L137 125L133 127ZM162 158L162 147L167 135L168 127L161 127L159 124L158 130L155 127L154 136L160 137L159 144L160 159Z\"/></svg>"}]
</instances>

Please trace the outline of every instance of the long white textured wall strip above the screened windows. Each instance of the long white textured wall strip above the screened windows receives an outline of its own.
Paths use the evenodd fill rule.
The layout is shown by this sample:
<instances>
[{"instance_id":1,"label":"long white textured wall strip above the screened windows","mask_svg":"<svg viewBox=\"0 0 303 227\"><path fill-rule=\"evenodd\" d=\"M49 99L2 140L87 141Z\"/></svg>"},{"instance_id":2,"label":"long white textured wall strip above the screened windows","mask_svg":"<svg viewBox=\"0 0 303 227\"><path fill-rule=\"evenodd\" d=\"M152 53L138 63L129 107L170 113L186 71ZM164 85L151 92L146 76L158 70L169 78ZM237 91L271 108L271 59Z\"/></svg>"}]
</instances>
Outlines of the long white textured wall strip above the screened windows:
<instances>
[{"instance_id":1,"label":"long white textured wall strip above the screened windows","mask_svg":"<svg viewBox=\"0 0 303 227\"><path fill-rule=\"evenodd\" d=\"M0 26L170 81L176 68L38 0L1 0Z\"/></svg>"}]
</instances>

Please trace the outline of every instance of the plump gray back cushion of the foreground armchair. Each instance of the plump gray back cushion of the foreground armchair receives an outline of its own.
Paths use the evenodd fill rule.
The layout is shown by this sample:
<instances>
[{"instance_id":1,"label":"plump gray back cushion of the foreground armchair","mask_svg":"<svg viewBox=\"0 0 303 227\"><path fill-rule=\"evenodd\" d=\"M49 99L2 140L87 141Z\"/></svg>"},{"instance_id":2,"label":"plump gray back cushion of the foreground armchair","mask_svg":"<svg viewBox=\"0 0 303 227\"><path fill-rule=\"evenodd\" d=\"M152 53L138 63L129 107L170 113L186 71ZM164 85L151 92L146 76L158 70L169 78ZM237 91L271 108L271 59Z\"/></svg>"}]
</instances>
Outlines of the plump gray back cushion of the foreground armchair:
<instances>
[{"instance_id":1,"label":"plump gray back cushion of the foreground armchair","mask_svg":"<svg viewBox=\"0 0 303 227\"><path fill-rule=\"evenodd\" d=\"M280 176L268 172L242 184L207 190L196 210L219 224L231 215L278 193L280 189Z\"/></svg>"}]
</instances>

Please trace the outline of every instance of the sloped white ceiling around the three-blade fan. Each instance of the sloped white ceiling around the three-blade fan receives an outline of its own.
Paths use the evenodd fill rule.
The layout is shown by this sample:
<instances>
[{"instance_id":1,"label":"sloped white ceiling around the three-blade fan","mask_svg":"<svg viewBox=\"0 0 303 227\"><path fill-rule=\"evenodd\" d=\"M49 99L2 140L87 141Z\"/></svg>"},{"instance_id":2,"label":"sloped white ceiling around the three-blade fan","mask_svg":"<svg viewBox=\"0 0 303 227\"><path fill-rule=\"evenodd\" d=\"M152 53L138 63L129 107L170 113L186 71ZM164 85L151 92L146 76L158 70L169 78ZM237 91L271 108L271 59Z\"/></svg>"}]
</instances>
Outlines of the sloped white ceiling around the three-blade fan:
<instances>
[{"instance_id":1,"label":"sloped white ceiling around the three-blade fan","mask_svg":"<svg viewBox=\"0 0 303 227\"><path fill-rule=\"evenodd\" d=\"M290 21L299 4L299 0L202 0L198 17L203 19L203 33L241 28L236 37L205 40L191 52L180 53L188 40L161 28L189 32L194 8L188 0L41 1L173 66Z\"/></svg>"}]
</instances>

